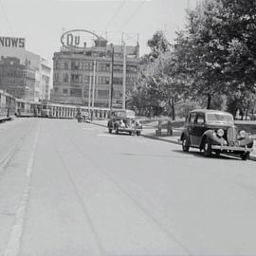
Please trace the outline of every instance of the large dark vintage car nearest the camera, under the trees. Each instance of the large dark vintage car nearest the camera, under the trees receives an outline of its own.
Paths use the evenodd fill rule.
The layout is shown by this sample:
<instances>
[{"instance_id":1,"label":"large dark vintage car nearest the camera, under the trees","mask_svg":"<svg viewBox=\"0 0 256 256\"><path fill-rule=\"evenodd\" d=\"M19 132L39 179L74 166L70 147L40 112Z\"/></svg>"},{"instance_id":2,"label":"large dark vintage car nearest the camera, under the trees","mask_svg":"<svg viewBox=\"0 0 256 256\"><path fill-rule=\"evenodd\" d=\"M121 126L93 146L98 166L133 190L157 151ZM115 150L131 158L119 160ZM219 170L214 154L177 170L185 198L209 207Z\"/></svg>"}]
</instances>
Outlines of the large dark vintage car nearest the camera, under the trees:
<instances>
[{"instance_id":1,"label":"large dark vintage car nearest the camera, under the trees","mask_svg":"<svg viewBox=\"0 0 256 256\"><path fill-rule=\"evenodd\" d=\"M253 139L244 130L238 131L233 116L227 112L195 109L188 115L181 134L182 149L198 148L204 155L221 153L240 155L247 160Z\"/></svg>"}]
</instances>

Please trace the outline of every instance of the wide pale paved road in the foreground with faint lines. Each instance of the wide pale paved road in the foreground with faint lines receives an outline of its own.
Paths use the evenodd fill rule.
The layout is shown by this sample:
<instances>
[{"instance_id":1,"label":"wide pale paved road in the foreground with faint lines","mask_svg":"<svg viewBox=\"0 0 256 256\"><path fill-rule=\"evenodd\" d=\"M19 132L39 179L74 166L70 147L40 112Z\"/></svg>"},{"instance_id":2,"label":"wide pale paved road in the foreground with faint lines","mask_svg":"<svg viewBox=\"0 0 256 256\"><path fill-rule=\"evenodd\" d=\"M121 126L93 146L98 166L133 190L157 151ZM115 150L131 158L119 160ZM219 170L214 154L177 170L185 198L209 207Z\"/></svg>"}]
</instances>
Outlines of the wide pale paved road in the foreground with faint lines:
<instances>
[{"instance_id":1,"label":"wide pale paved road in the foreground with faint lines","mask_svg":"<svg viewBox=\"0 0 256 256\"><path fill-rule=\"evenodd\" d=\"M66 119L0 142L0 255L256 254L254 161Z\"/></svg>"}]
</instances>

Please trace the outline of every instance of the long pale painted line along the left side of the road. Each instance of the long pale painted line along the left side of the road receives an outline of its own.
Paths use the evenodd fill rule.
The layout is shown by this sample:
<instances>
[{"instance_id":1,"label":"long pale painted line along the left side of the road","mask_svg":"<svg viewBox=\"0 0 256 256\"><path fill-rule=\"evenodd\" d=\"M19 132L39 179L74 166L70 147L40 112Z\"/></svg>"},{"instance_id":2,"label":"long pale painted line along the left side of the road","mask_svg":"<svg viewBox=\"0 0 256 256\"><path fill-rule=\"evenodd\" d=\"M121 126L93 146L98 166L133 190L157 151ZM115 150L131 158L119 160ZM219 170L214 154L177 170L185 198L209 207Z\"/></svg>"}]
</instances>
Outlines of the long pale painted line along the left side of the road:
<instances>
[{"instance_id":1,"label":"long pale painted line along the left side of the road","mask_svg":"<svg viewBox=\"0 0 256 256\"><path fill-rule=\"evenodd\" d=\"M31 174L33 170L34 156L38 143L39 137L39 123L37 126L36 136L32 147L32 152L29 156L27 171L26 171L26 184L25 189L22 193L21 201L19 204L19 208L16 211L14 225L10 231L9 241L7 247L5 249L4 256L17 256L19 254L21 239L24 230L25 217L27 212L28 199L31 189Z\"/></svg>"}]
</instances>

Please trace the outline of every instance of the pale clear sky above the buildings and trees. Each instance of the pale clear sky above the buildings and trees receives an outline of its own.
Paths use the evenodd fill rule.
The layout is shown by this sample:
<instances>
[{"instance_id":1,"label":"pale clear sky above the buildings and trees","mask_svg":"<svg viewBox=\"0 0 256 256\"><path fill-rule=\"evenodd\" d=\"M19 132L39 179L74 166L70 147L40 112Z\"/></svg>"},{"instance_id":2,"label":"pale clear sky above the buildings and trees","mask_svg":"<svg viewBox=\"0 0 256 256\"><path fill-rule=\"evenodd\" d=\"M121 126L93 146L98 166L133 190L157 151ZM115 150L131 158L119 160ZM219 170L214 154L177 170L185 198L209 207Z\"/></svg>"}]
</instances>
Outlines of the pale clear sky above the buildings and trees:
<instances>
[{"instance_id":1,"label":"pale clear sky above the buildings and trees","mask_svg":"<svg viewBox=\"0 0 256 256\"><path fill-rule=\"evenodd\" d=\"M61 36L86 29L108 43L150 51L147 41L163 30L172 43L186 22L188 7L197 0L0 0L0 36L26 38L26 48L49 61L60 50ZM123 36L122 36L123 34Z\"/></svg>"}]
</instances>

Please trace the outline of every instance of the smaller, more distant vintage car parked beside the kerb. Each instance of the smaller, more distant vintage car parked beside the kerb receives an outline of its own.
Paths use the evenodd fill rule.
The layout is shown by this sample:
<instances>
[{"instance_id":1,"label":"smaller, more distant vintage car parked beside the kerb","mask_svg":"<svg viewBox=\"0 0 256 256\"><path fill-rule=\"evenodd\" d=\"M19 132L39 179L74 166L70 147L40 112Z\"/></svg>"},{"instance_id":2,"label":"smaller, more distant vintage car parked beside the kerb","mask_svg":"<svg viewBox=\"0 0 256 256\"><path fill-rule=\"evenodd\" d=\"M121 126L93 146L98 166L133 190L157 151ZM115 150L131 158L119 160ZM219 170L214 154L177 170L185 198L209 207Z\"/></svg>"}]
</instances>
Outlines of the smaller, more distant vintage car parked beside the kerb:
<instances>
[{"instance_id":1,"label":"smaller, more distant vintage car parked beside the kerb","mask_svg":"<svg viewBox=\"0 0 256 256\"><path fill-rule=\"evenodd\" d=\"M128 133L129 135L140 135L142 125L135 117L135 112L132 110L115 110L110 113L110 119L107 123L108 132L111 134L115 131L119 133Z\"/></svg>"}]
</instances>

